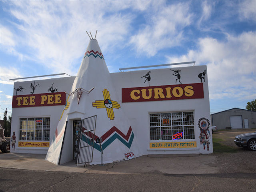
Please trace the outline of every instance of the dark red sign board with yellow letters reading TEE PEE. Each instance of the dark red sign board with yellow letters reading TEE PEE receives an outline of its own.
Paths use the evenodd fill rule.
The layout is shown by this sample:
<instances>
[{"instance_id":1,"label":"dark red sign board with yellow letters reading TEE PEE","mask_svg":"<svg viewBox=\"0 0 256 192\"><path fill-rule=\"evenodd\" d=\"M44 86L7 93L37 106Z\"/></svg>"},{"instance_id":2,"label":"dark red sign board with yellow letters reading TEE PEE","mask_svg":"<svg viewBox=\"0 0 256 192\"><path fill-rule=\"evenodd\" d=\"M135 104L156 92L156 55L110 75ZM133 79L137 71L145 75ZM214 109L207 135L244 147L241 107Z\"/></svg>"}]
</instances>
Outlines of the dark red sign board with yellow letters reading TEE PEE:
<instances>
[{"instance_id":1,"label":"dark red sign board with yellow letters reading TEE PEE","mask_svg":"<svg viewBox=\"0 0 256 192\"><path fill-rule=\"evenodd\" d=\"M65 92L12 96L12 108L52 106L65 104Z\"/></svg>"}]
</instances>

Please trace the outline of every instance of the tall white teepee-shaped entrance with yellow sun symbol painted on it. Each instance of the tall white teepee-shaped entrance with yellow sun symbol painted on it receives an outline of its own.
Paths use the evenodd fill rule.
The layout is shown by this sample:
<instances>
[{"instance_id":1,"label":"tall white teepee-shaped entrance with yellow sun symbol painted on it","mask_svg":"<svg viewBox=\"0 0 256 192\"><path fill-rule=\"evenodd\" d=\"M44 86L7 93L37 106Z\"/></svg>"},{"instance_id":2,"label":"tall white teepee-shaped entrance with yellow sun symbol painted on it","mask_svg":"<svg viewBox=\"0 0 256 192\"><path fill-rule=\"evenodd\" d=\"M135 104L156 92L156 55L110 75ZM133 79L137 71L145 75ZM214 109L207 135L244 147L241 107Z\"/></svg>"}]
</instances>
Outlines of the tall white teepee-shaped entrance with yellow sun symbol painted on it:
<instances>
[{"instance_id":1,"label":"tall white teepee-shaped entrance with yellow sun symbol painted on it","mask_svg":"<svg viewBox=\"0 0 256 192\"><path fill-rule=\"evenodd\" d=\"M102 154L100 145L96 142L97 138L102 138L104 163L123 160L125 154L130 152L134 157L139 156L136 136L122 110L120 104L122 100L116 94L104 56L96 39L90 39L70 93L77 92L78 89L82 92L90 89L90 92L82 95L72 94L68 97L67 105L58 122L56 136L50 144L46 160L55 164L72 160L70 155L66 155L72 153L71 150L68 150L70 149L70 133L72 132L69 121L82 120L95 115L97 116L95 134L87 134L86 136L84 132L86 128L82 128L81 136L86 139L80 140L80 146L84 145L84 142L91 143L94 140L92 164L101 163ZM90 138L92 135L94 137Z\"/></svg>"}]
</instances>

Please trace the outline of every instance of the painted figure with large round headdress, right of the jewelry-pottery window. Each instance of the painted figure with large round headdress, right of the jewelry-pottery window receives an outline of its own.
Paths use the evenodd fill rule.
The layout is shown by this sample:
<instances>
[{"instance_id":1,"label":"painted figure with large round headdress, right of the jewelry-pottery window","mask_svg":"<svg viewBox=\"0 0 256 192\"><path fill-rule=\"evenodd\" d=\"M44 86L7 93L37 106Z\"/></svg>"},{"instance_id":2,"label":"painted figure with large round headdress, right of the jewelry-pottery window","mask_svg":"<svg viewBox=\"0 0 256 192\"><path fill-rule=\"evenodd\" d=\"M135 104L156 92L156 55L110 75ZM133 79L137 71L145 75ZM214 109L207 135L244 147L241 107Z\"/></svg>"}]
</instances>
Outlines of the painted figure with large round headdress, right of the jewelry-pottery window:
<instances>
[{"instance_id":1,"label":"painted figure with large round headdress, right of the jewelry-pottery window","mask_svg":"<svg viewBox=\"0 0 256 192\"><path fill-rule=\"evenodd\" d=\"M200 128L200 144L204 145L204 149L207 145L207 150L209 150L211 134L209 131L210 122L206 118L200 118L198 121L198 127Z\"/></svg>"}]
</instances>

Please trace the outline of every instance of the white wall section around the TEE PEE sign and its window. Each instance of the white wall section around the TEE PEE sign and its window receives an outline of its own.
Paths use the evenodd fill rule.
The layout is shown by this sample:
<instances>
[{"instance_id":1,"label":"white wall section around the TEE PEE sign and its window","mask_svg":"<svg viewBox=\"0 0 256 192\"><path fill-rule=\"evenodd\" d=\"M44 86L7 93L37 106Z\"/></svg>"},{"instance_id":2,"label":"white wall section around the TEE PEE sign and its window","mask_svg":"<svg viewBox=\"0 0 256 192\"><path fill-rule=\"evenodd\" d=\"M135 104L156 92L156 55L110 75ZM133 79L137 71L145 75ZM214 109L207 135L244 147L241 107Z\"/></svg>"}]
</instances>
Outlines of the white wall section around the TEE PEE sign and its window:
<instances>
[{"instance_id":1,"label":"white wall section around the TEE PEE sign and its window","mask_svg":"<svg viewBox=\"0 0 256 192\"><path fill-rule=\"evenodd\" d=\"M30 88L30 84L34 84L35 86L38 82L39 86L36 86L34 90L34 94L42 94L42 93L50 93L48 89L52 86L56 88L58 92L70 92L72 84L74 82L75 77L64 77L64 78L52 78L47 80L33 80L33 81L24 81L24 82L15 82L14 88L26 88L17 92L17 95L28 95L31 94L32 89ZM16 90L14 90L14 95L16 95ZM67 95L66 95L67 99ZM34 147L18 147L19 142L19 128L20 128L20 118L33 118L33 117L50 117L50 140L54 136L54 132L56 130L58 121L60 119L62 110L64 109L64 105L58 106L38 106L38 107L20 107L20 108L12 108L12 127L11 132L15 132L16 134L16 145L15 151L11 152L15 153L36 153L36 154L46 154L48 148L34 148Z\"/></svg>"}]
</instances>

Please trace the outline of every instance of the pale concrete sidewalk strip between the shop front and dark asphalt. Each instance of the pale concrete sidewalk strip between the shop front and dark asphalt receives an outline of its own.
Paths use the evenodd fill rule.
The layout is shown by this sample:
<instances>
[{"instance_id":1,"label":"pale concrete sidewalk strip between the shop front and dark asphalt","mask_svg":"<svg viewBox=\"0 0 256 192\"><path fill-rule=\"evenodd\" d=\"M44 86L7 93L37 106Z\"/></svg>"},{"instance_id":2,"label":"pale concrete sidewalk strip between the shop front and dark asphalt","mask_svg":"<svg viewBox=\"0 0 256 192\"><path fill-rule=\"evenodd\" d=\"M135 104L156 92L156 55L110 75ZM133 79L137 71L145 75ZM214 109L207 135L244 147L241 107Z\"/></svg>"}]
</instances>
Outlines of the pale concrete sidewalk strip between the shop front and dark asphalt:
<instances>
[{"instance_id":1,"label":"pale concrete sidewalk strip between the shop front and dark asphalt","mask_svg":"<svg viewBox=\"0 0 256 192\"><path fill-rule=\"evenodd\" d=\"M45 160L45 154L0 154L0 167L36 171L60 171L99 174L210 174L217 173L216 156L202 154L144 155L132 160L104 166L76 166L74 161L55 165Z\"/></svg>"}]
</instances>

